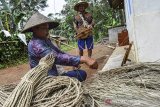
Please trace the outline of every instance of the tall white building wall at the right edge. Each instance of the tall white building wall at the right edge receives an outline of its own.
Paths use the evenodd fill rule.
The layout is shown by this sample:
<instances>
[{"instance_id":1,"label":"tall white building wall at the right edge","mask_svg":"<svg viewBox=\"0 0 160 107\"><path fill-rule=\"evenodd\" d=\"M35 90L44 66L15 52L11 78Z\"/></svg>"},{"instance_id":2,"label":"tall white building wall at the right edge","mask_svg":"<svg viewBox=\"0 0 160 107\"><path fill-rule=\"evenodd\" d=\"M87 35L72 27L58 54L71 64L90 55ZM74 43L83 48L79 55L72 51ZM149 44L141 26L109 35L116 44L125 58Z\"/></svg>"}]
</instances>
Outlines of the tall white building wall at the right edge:
<instances>
[{"instance_id":1,"label":"tall white building wall at the right edge","mask_svg":"<svg viewBox=\"0 0 160 107\"><path fill-rule=\"evenodd\" d=\"M137 62L160 59L160 0L125 0L126 23Z\"/></svg>"}]
</instances>

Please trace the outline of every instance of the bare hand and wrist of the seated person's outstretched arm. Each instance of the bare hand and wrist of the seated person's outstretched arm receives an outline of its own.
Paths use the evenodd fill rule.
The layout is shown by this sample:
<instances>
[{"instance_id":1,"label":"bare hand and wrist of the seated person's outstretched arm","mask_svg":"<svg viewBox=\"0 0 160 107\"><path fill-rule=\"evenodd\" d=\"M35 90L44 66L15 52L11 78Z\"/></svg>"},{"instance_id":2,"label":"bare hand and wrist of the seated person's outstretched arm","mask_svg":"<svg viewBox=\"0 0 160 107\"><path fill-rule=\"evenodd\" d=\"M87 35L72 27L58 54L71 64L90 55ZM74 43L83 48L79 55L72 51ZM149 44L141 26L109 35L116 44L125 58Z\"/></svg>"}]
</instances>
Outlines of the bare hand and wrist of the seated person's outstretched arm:
<instances>
[{"instance_id":1,"label":"bare hand and wrist of the seated person's outstretched arm","mask_svg":"<svg viewBox=\"0 0 160 107\"><path fill-rule=\"evenodd\" d=\"M98 69L98 63L95 59L85 57L85 56L81 56L81 63L85 63L91 69Z\"/></svg>"}]
</instances>

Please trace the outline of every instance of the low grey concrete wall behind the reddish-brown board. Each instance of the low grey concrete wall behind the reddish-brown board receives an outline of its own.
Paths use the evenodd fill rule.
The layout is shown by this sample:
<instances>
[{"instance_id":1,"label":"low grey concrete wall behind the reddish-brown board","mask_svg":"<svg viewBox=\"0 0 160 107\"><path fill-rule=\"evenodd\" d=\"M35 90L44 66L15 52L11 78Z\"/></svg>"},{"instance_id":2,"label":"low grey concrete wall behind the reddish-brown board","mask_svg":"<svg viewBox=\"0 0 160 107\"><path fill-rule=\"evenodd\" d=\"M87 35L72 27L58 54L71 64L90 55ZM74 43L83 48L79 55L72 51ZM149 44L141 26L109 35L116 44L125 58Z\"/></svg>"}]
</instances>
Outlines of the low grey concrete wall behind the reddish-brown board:
<instances>
[{"instance_id":1,"label":"low grey concrete wall behind the reddish-brown board","mask_svg":"<svg viewBox=\"0 0 160 107\"><path fill-rule=\"evenodd\" d=\"M118 42L118 33L122 32L126 27L121 26L121 27L115 27L115 28L110 28L108 29L108 34L109 34L109 42L110 43L117 43Z\"/></svg>"}]
</instances>

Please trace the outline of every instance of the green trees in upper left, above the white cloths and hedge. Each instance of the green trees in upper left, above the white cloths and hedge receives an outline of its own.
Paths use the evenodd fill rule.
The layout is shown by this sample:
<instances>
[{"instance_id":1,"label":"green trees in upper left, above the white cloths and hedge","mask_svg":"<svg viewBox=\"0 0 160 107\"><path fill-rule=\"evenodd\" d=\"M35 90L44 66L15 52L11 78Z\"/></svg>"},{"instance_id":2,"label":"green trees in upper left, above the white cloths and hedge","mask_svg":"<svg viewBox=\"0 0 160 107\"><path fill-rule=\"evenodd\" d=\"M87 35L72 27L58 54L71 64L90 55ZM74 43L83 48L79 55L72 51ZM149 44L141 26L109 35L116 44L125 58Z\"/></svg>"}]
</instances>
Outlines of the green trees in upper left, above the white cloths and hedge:
<instances>
[{"instance_id":1,"label":"green trees in upper left, above the white cloths and hedge","mask_svg":"<svg viewBox=\"0 0 160 107\"><path fill-rule=\"evenodd\" d=\"M24 22L33 12L47 7L46 0L0 0L0 20L3 28L10 33L19 30L18 25L24 26Z\"/></svg>"}]
</instances>

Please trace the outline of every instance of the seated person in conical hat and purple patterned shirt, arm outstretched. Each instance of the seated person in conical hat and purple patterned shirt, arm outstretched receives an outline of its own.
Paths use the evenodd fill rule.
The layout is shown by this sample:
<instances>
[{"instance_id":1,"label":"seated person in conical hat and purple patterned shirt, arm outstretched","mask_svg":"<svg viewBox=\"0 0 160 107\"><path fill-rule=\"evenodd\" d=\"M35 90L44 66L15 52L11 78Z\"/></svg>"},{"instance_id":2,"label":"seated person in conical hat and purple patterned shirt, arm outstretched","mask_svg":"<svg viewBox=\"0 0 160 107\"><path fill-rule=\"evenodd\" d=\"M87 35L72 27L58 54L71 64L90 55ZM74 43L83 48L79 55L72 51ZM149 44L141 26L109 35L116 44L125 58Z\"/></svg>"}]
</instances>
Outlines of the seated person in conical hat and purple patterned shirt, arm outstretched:
<instances>
[{"instance_id":1,"label":"seated person in conical hat and purple patterned shirt, arm outstretched","mask_svg":"<svg viewBox=\"0 0 160 107\"><path fill-rule=\"evenodd\" d=\"M35 13L26 23L22 33L32 32L33 38L28 44L28 54L31 68L38 65L39 60L49 53L55 55L55 62L51 70L48 71L50 76L58 76L57 65L75 66L80 63L87 64L92 69L97 69L98 64L94 59L88 57L73 56L62 52L55 47L48 38L49 30L57 27L59 24L45 17L40 13ZM73 70L62 74L63 76L75 77L79 81L84 81L87 73L83 70Z\"/></svg>"}]
</instances>

